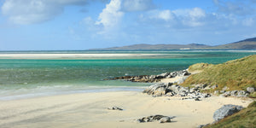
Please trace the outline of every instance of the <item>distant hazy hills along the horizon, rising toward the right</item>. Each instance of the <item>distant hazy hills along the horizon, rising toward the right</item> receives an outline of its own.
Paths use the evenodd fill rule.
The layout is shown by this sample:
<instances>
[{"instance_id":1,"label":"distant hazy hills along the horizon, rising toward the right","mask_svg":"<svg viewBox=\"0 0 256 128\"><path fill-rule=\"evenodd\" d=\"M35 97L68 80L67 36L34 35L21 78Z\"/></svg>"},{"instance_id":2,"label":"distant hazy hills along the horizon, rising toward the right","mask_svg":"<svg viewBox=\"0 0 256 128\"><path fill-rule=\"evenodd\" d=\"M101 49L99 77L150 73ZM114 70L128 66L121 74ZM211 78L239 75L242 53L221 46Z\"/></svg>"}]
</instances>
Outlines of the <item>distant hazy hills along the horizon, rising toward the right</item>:
<instances>
[{"instance_id":1,"label":"distant hazy hills along the horizon, rising toward the right","mask_svg":"<svg viewBox=\"0 0 256 128\"><path fill-rule=\"evenodd\" d=\"M147 49L256 49L256 38L247 38L235 43L209 46L205 44L134 44L123 47L90 50L147 50Z\"/></svg>"}]
</instances>

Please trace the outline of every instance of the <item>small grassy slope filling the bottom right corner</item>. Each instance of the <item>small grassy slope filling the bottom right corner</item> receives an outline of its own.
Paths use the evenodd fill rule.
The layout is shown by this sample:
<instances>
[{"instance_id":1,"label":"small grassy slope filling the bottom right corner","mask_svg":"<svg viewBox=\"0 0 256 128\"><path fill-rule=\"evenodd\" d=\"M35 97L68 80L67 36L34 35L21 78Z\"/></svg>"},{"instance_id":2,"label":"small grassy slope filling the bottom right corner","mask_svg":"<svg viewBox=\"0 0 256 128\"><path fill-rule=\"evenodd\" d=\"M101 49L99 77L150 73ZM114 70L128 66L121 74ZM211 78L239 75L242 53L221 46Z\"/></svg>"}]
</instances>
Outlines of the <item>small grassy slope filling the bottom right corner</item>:
<instances>
[{"instance_id":1,"label":"small grassy slope filling the bottom right corner","mask_svg":"<svg viewBox=\"0 0 256 128\"><path fill-rule=\"evenodd\" d=\"M220 120L216 124L207 125L204 128L255 128L256 127L256 101L247 108L229 117Z\"/></svg>"}]
</instances>

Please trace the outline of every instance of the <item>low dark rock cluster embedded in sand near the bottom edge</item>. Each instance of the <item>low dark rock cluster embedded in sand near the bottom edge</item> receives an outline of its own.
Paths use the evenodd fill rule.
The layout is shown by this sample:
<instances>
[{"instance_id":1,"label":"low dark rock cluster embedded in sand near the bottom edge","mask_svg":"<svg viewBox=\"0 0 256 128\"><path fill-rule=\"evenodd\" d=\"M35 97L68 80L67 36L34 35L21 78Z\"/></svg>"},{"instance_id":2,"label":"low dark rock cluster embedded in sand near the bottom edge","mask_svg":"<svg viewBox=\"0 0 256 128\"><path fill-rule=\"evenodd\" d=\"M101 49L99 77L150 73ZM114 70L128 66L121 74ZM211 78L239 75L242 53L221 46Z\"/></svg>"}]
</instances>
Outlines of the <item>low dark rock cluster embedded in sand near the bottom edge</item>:
<instances>
[{"instance_id":1,"label":"low dark rock cluster embedded in sand near the bottom edge","mask_svg":"<svg viewBox=\"0 0 256 128\"><path fill-rule=\"evenodd\" d=\"M168 122L171 122L171 119L173 119L173 118L175 118L175 117L169 117L169 116L156 114L156 115L151 115L148 117L143 117L142 119L137 119L137 122L144 123L144 122L160 121L160 123L168 123Z\"/></svg>"}]
</instances>

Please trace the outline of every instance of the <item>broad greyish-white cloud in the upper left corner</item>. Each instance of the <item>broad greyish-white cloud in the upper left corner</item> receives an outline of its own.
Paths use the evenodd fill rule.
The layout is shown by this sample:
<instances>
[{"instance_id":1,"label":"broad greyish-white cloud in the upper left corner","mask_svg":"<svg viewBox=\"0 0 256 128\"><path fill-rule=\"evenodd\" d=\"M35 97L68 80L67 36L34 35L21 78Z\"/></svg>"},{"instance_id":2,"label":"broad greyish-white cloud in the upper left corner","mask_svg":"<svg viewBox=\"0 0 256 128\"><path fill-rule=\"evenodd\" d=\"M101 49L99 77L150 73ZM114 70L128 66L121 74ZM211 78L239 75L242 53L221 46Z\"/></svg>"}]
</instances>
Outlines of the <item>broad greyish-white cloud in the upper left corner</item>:
<instances>
[{"instance_id":1,"label":"broad greyish-white cloud in the upper left corner","mask_svg":"<svg viewBox=\"0 0 256 128\"><path fill-rule=\"evenodd\" d=\"M33 24L52 20L67 5L84 5L89 0L6 0L3 15L16 24Z\"/></svg>"}]
</instances>

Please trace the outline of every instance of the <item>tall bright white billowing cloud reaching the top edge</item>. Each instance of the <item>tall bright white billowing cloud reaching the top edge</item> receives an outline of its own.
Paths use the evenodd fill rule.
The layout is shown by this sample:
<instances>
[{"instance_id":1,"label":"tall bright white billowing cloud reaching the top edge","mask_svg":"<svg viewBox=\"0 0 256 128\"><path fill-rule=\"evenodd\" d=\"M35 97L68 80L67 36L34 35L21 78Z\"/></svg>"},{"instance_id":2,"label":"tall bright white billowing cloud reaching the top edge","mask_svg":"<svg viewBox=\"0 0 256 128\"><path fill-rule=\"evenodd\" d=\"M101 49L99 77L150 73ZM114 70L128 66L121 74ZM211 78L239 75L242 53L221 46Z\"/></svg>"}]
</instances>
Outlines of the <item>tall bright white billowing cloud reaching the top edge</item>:
<instances>
[{"instance_id":1,"label":"tall bright white billowing cloud reaching the top edge","mask_svg":"<svg viewBox=\"0 0 256 128\"><path fill-rule=\"evenodd\" d=\"M106 5L106 8L102 10L98 21L96 21L96 25L102 24L107 29L117 26L124 15L120 9L121 1L111 0L111 2Z\"/></svg>"}]
</instances>

